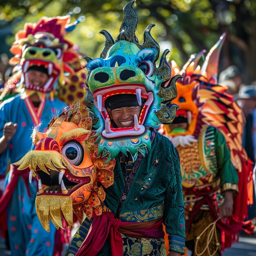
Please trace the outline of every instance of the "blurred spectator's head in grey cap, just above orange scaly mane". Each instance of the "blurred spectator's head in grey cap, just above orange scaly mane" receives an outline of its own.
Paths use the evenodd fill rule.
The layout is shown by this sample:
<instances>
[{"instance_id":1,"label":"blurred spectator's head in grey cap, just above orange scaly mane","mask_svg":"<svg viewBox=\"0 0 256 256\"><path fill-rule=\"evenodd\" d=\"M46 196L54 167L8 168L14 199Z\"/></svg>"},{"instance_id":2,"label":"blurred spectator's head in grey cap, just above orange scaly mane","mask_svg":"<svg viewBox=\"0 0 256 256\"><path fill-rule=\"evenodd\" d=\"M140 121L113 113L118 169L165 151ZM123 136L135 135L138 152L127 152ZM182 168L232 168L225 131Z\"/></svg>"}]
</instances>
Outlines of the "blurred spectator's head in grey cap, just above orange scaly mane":
<instances>
[{"instance_id":1,"label":"blurred spectator's head in grey cap, just above orange scaly mane","mask_svg":"<svg viewBox=\"0 0 256 256\"><path fill-rule=\"evenodd\" d=\"M219 81L220 85L226 85L229 89L227 93L236 94L238 93L239 87L242 84L240 72L238 67L232 65L227 67L225 70L220 72Z\"/></svg>"}]
</instances>

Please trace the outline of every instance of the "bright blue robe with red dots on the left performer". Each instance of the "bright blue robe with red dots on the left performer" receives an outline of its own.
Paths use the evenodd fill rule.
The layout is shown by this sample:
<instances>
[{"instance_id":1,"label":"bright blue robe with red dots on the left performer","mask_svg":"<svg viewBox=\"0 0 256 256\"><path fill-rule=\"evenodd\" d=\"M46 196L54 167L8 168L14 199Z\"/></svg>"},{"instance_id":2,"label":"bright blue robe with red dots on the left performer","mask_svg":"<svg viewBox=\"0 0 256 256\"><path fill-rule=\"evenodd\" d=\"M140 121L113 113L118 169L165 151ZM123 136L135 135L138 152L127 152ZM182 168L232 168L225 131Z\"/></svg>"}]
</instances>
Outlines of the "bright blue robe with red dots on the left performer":
<instances>
[{"instance_id":1,"label":"bright blue robe with red dots on the left performer","mask_svg":"<svg viewBox=\"0 0 256 256\"><path fill-rule=\"evenodd\" d=\"M38 130L45 132L52 116L62 112L65 103L58 99L45 100L40 120L32 116L28 106L29 101L20 98L20 94L7 99L0 104L0 137L3 135L3 127L7 122L18 124L16 133L9 141L7 149L0 155L0 174L4 174L8 168L8 162L15 163L20 160L32 146L31 133L40 122ZM30 102L31 103L31 102ZM39 109L39 108L38 108ZM7 175L6 183L9 175ZM27 184L25 184L27 182ZM12 256L51 256L54 250L55 227L50 225L50 233L43 229L36 216L35 198L38 191L38 182L18 178L18 184L12 195L7 209L7 226ZM28 195L27 187L31 194Z\"/></svg>"}]
</instances>

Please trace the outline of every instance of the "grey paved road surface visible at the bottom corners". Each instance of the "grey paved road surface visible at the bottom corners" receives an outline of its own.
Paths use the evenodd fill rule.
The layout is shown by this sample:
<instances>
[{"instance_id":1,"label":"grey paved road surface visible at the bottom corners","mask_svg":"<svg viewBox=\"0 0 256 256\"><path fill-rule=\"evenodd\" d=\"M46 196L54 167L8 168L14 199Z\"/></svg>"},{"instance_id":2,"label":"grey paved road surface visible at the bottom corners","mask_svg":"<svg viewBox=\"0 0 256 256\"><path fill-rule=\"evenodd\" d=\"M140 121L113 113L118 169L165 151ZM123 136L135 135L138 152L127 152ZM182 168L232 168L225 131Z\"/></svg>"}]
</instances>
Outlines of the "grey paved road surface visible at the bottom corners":
<instances>
[{"instance_id":1,"label":"grey paved road surface visible at the bottom corners","mask_svg":"<svg viewBox=\"0 0 256 256\"><path fill-rule=\"evenodd\" d=\"M0 240L0 256L10 255L11 252L5 248L3 241ZM254 236L240 236L239 243L227 249L222 256L256 256L256 232Z\"/></svg>"}]
</instances>

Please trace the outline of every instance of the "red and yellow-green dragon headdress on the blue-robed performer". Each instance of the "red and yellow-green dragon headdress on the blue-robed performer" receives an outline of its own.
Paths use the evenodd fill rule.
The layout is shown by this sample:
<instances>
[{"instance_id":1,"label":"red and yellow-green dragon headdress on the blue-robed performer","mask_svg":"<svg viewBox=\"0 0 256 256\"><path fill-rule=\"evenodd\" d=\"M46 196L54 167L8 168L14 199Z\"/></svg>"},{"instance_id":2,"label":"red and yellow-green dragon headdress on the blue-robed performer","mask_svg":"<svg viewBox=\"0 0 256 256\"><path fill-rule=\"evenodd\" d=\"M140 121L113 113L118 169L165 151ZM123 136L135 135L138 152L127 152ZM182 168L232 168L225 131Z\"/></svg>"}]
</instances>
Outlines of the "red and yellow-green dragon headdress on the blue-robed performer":
<instances>
[{"instance_id":1,"label":"red and yellow-green dragon headdress on the blue-robed performer","mask_svg":"<svg viewBox=\"0 0 256 256\"><path fill-rule=\"evenodd\" d=\"M11 46L10 52L15 56L10 59L10 64L16 65L16 72L1 98L13 86L19 90L25 88L28 94L32 90L49 93L52 97L57 94L67 104L83 98L85 71L79 65L79 52L66 38L81 20L82 17L70 23L70 15L67 15L43 17L37 23L26 23ZM31 66L43 66L47 70L49 79L42 88L29 84L27 70Z\"/></svg>"}]
</instances>

